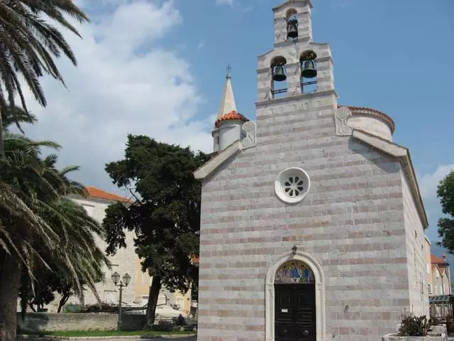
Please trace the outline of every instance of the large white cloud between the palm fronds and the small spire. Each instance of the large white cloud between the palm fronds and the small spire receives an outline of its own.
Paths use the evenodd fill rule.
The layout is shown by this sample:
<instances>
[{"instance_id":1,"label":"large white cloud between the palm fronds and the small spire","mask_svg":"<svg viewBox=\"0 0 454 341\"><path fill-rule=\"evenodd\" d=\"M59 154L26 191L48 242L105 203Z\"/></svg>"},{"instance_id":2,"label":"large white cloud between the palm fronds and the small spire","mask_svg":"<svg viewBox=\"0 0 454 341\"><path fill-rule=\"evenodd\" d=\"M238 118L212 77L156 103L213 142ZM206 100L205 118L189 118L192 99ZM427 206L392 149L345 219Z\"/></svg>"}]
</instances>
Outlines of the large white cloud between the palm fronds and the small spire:
<instances>
[{"instance_id":1,"label":"large white cloud between the palm fronds and the small spire","mask_svg":"<svg viewBox=\"0 0 454 341\"><path fill-rule=\"evenodd\" d=\"M194 120L203 99L190 65L159 44L182 22L173 2L101 0L97 6L107 3L108 16L79 28L83 40L66 35L79 63L58 60L68 89L43 78L46 108L28 92L39 121L24 128L32 137L62 144L62 165L82 167L78 180L112 190L104 165L123 157L128 133L204 151L212 142L209 117Z\"/></svg>"}]
</instances>

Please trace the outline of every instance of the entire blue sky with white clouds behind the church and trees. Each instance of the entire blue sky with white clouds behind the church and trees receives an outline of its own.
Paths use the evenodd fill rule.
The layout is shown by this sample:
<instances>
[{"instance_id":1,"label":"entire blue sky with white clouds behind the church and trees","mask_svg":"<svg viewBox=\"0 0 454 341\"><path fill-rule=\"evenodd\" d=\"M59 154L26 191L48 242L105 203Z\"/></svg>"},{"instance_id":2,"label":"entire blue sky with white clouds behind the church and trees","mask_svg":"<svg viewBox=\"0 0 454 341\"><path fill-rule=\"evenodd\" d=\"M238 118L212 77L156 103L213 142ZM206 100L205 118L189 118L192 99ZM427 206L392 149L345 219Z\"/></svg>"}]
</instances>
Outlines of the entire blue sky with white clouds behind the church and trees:
<instances>
[{"instance_id":1,"label":"entire blue sky with white clouds behind the church and trees","mask_svg":"<svg viewBox=\"0 0 454 341\"><path fill-rule=\"evenodd\" d=\"M78 0L92 22L65 37L74 67L58 60L67 88L46 77L48 106L28 92L35 139L62 145L74 180L121 193L104 166L126 136L211 151L226 65L238 111L255 119L257 56L273 48L272 7L281 0ZM437 239L436 186L454 170L454 1L313 0L314 41L330 43L340 104L371 107L396 123Z\"/></svg>"}]
</instances>

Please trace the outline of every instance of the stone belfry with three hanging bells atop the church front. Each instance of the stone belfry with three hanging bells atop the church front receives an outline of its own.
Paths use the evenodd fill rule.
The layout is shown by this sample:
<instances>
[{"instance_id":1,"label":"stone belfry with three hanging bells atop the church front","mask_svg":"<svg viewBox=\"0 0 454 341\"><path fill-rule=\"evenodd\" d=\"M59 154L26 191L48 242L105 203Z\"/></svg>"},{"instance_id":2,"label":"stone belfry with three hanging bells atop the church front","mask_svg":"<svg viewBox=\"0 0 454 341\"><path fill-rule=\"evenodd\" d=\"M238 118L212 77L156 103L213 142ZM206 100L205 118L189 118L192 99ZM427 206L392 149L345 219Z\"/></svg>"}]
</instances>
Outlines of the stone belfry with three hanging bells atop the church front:
<instances>
[{"instance_id":1,"label":"stone belfry with three hanging bells atop the church front","mask_svg":"<svg viewBox=\"0 0 454 341\"><path fill-rule=\"evenodd\" d=\"M275 48L258 58L258 107L335 93L331 48L312 41L311 9L311 0L288 0L273 9Z\"/></svg>"}]
</instances>

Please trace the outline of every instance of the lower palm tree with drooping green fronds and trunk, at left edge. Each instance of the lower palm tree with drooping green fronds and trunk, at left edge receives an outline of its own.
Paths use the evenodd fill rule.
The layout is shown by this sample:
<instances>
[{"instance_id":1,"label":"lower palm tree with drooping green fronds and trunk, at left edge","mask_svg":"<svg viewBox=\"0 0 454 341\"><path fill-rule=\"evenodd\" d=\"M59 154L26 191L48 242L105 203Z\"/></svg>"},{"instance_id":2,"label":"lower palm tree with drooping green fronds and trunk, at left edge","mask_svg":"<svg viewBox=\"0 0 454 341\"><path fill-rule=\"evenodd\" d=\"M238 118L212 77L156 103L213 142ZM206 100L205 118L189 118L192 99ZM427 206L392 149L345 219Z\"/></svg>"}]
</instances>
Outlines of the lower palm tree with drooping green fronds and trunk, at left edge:
<instances>
[{"instance_id":1,"label":"lower palm tree with drooping green fronds and trunk, at left edge","mask_svg":"<svg viewBox=\"0 0 454 341\"><path fill-rule=\"evenodd\" d=\"M12 341L16 340L21 277L25 273L33 283L33 264L40 262L52 271L46 261L51 259L72 278L76 293L81 293L80 279L94 289L106 259L94 242L94 234L104 236L99 224L82 206L65 198L84 193L81 184L66 176L77 167L58 171L57 157L43 158L40 148L60 146L3 130L6 158L0 159L0 341Z\"/></svg>"}]
</instances>

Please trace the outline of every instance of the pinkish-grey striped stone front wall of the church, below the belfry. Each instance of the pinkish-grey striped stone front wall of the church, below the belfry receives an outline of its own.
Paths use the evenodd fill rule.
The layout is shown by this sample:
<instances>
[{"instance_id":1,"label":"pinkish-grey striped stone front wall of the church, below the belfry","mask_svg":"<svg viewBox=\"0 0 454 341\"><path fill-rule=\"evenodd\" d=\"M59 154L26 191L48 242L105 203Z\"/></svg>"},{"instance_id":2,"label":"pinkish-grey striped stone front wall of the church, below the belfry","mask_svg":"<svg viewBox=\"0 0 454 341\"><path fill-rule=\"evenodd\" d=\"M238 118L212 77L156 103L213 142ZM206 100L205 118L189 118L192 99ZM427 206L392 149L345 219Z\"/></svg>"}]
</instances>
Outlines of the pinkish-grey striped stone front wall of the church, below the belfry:
<instances>
[{"instance_id":1,"label":"pinkish-grey striped stone front wall of the church, below the belfry","mask_svg":"<svg viewBox=\"0 0 454 341\"><path fill-rule=\"evenodd\" d=\"M198 340L264 340L265 274L294 244L325 276L321 340L381 340L409 308L400 165L335 136L335 97L268 103L258 145L204 180ZM292 166L311 177L297 205L273 187Z\"/></svg>"}]
</instances>

